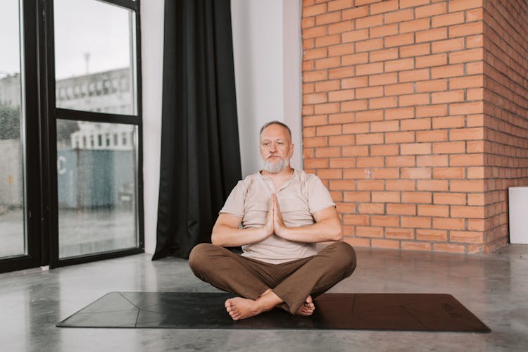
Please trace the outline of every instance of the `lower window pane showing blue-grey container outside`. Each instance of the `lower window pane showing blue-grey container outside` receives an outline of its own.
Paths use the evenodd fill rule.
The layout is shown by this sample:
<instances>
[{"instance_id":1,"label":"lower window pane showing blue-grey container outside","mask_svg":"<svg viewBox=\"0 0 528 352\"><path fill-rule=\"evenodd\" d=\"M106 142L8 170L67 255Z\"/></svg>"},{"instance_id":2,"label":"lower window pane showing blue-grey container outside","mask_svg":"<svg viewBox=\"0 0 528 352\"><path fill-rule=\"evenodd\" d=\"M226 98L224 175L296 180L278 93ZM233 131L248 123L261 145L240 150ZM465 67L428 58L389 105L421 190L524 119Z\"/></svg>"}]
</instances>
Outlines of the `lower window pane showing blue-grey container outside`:
<instances>
[{"instance_id":1,"label":"lower window pane showing blue-grey container outside","mask_svg":"<svg viewBox=\"0 0 528 352\"><path fill-rule=\"evenodd\" d=\"M136 133L57 120L59 258L137 246Z\"/></svg>"}]
</instances>

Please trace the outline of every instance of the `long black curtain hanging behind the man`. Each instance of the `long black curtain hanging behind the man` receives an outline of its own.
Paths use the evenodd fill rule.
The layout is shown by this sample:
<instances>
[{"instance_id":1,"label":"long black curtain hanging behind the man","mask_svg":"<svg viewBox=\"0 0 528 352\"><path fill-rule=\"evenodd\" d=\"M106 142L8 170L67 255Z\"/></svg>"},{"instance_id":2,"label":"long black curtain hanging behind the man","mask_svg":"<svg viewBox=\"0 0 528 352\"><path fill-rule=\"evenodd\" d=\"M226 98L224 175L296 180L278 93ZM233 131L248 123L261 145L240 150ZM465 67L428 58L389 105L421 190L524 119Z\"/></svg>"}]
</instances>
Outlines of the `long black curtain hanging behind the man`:
<instances>
[{"instance_id":1,"label":"long black curtain hanging behind the man","mask_svg":"<svg viewBox=\"0 0 528 352\"><path fill-rule=\"evenodd\" d=\"M189 258L241 178L230 0L165 0L158 230L153 260Z\"/></svg>"}]
</instances>

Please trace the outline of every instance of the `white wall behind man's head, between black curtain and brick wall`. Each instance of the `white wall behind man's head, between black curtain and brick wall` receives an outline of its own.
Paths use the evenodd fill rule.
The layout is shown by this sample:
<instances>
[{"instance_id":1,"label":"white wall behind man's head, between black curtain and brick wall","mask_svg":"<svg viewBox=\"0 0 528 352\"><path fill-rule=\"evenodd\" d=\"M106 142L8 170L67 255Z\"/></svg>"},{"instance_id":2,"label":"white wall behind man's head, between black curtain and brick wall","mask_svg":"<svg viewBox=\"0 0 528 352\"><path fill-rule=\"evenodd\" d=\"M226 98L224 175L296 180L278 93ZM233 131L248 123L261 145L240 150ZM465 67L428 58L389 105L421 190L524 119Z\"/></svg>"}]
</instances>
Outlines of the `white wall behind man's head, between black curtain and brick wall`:
<instances>
[{"instance_id":1,"label":"white wall behind man's head, between black curtain and brick wall","mask_svg":"<svg viewBox=\"0 0 528 352\"><path fill-rule=\"evenodd\" d=\"M242 176L260 170L258 131L270 120L291 128L301 168L301 1L232 0L231 11Z\"/></svg>"}]
</instances>

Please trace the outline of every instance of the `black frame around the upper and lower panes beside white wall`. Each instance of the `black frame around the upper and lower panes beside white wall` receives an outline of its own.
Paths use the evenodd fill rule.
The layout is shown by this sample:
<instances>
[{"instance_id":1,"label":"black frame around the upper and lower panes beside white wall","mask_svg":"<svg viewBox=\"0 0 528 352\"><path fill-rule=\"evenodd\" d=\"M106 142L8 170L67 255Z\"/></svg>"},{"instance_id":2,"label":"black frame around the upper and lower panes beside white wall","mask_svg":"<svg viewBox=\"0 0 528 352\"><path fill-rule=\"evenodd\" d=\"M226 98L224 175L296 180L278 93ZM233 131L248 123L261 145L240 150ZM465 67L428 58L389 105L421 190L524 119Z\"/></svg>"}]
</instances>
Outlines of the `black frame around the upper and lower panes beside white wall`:
<instances>
[{"instance_id":1,"label":"black frame around the upper and lower panes beside white wall","mask_svg":"<svg viewBox=\"0 0 528 352\"><path fill-rule=\"evenodd\" d=\"M49 180L44 182L44 195L46 199L46 209L48 211L48 222L45 229L48 234L51 234L48 239L44 239L49 243L49 266L50 268L58 268L65 265L74 265L80 263L88 263L95 260L103 260L108 258L118 258L120 256L128 256L131 254L144 253L144 205L143 205L143 123L142 123L142 64L141 64L141 16L139 13L139 0L92 0L101 1L108 4L127 8L134 11L135 14L135 49L136 53L135 76L136 76L136 93L134 102L137 103L136 113L134 115L118 115L113 113L100 113L92 111L77 111L66 108L56 107L56 87L55 87L55 45L54 45L54 1L41 0L40 6L44 13L44 18L39 22L39 54L41 54L41 62L46 63L40 75L41 82L44 84L42 92L45 99L42 99L41 109L45 112L42 115L44 122L44 131L46 134L46 141L42 148L46 162L46 172L49 175ZM43 47L44 46L44 47ZM47 49L46 49L47 48ZM137 229L137 247L129 249L117 249L105 251L100 253L93 253L82 256L59 258L59 234L58 234L58 184L57 184L57 144L56 144L56 124L57 120L75 120L87 122L105 122L105 123L119 123L125 125L134 125L137 127L137 144L136 144L136 229Z\"/></svg>"}]
</instances>

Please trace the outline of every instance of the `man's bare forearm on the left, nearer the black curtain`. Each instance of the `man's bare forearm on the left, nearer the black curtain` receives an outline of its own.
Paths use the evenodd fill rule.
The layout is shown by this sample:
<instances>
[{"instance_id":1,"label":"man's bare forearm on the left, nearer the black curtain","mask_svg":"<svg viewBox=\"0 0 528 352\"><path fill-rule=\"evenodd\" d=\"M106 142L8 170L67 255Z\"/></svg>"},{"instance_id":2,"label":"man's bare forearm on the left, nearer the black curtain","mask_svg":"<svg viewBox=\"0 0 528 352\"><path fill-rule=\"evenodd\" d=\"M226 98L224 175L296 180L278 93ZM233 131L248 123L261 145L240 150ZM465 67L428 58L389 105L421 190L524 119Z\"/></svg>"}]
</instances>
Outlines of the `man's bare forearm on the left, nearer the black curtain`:
<instances>
[{"instance_id":1,"label":"man's bare forearm on the left, nearer the black curtain","mask_svg":"<svg viewBox=\"0 0 528 352\"><path fill-rule=\"evenodd\" d=\"M263 227L235 229L230 226L215 225L213 227L213 233L211 234L211 242L216 246L237 247L260 242L269 236Z\"/></svg>"}]
</instances>

